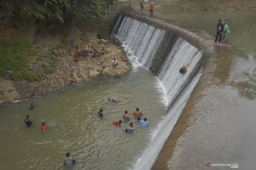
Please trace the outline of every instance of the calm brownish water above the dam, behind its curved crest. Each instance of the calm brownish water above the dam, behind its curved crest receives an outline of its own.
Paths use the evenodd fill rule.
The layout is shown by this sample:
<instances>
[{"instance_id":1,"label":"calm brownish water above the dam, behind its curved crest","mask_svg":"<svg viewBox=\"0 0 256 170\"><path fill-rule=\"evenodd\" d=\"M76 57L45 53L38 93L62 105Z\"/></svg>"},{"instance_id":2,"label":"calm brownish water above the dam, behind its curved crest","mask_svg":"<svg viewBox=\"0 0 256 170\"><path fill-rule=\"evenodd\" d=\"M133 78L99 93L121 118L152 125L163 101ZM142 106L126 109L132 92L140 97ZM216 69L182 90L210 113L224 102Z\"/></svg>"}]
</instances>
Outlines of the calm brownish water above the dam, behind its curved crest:
<instances>
[{"instance_id":1,"label":"calm brownish water above the dam, behind its curved crest","mask_svg":"<svg viewBox=\"0 0 256 170\"><path fill-rule=\"evenodd\" d=\"M236 48L216 43L218 56L205 65L152 169L204 169L208 162L238 163L238 169L255 169L256 12L157 14L203 29L213 35L213 41L221 18L231 31L229 44Z\"/></svg>"}]
</instances>

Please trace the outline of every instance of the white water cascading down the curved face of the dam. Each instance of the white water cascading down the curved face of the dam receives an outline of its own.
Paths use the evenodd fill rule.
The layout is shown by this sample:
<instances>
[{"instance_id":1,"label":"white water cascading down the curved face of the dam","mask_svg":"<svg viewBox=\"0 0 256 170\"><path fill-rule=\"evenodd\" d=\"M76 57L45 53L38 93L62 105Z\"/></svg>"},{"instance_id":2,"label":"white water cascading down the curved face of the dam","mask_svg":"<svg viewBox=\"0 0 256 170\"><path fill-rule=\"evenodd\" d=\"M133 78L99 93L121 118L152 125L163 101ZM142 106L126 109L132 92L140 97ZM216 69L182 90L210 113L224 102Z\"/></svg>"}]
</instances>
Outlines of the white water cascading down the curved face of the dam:
<instances>
[{"instance_id":1,"label":"white water cascading down the curved face of the dam","mask_svg":"<svg viewBox=\"0 0 256 170\"><path fill-rule=\"evenodd\" d=\"M115 28L119 24L120 20ZM148 149L137 156L133 167L128 167L136 170L150 169L201 76L202 52L170 31L155 28L127 16L123 17L117 37L121 40L134 69L143 66L158 75L161 82L157 85L162 84L164 89L161 91L167 96L167 114L151 134ZM183 64L189 65L186 74L179 73Z\"/></svg>"}]
</instances>

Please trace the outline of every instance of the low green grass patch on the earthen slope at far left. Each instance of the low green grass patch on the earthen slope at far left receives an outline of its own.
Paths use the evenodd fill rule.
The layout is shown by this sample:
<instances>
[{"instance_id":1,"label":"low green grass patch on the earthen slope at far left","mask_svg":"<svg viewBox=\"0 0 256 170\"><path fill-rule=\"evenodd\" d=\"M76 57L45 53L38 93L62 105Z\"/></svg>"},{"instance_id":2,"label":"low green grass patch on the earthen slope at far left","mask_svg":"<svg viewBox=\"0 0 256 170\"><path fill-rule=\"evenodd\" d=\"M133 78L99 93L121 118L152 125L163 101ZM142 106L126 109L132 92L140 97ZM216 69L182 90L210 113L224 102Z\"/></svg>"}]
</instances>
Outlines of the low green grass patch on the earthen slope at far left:
<instances>
[{"instance_id":1,"label":"low green grass patch on the earthen slope at far left","mask_svg":"<svg viewBox=\"0 0 256 170\"><path fill-rule=\"evenodd\" d=\"M35 50L30 49L32 41L27 38L22 38L16 41L2 40L0 42L0 73L5 70L11 70L13 80L28 80L28 81L40 81L42 75L36 71L29 71L27 64L29 60L28 56L36 55L36 62L43 61L44 58L48 58L49 61L54 63L58 60L57 57L52 54L43 56L40 53L36 53ZM40 66L45 66L41 64ZM47 68L46 73L54 73L54 68ZM9 77L8 77L9 78Z\"/></svg>"}]
</instances>

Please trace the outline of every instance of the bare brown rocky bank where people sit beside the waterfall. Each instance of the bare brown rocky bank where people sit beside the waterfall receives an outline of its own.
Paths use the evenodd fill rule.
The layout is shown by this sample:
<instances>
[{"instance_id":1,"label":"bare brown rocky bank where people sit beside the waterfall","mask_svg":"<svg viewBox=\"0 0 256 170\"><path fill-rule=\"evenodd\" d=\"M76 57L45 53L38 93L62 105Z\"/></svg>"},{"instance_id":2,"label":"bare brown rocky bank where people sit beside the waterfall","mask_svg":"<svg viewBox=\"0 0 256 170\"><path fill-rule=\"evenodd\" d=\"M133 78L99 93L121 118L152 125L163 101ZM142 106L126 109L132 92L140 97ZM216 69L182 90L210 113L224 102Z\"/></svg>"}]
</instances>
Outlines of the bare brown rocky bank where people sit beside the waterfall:
<instances>
[{"instance_id":1,"label":"bare brown rocky bank where people sit beside the waterfall","mask_svg":"<svg viewBox=\"0 0 256 170\"><path fill-rule=\"evenodd\" d=\"M109 29L111 25L107 26ZM97 31L96 29L99 28ZM65 88L70 85L69 77L73 74L76 77L76 84L85 81L89 77L97 76L121 76L130 70L130 63L127 60L126 53L122 50L118 42L113 42L108 39L108 29L104 26L86 27L85 32L75 28L72 34L68 37L72 40L71 44L61 47L59 50L51 50L50 46L58 43L58 35L45 35L34 37L33 48L39 49L40 53L54 54L57 58L56 62L37 60L38 56L28 56L28 67L30 70L40 71L52 69L53 73L44 74L40 81L25 81L25 80L8 80L8 78L0 76L0 103L13 101L16 99L31 97L35 95L44 95L60 88ZM103 29L103 31L101 30ZM100 36L101 35L101 36ZM101 40L99 37L107 37L107 40ZM81 38L82 37L82 38ZM98 38L97 38L98 37ZM104 37L104 38L105 38ZM93 58L91 55L80 57L80 60L75 62L72 53L75 53L75 48L78 47L82 53L83 47L92 46L92 49L101 51L104 46L107 53L99 54ZM107 47L108 46L108 47ZM119 65L113 67L112 60L116 56Z\"/></svg>"}]
</instances>

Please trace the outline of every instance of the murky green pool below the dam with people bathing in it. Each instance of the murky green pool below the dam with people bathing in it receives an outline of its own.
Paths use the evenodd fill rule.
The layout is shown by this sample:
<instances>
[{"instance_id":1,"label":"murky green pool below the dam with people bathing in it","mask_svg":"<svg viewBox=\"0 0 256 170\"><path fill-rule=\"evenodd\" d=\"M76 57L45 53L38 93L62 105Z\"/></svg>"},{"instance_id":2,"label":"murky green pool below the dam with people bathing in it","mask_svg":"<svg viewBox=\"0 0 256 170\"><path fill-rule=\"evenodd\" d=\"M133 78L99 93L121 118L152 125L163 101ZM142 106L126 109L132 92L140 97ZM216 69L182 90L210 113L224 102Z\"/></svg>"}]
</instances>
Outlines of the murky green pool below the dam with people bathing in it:
<instances>
[{"instance_id":1,"label":"murky green pool below the dam with people bathing in it","mask_svg":"<svg viewBox=\"0 0 256 170\"><path fill-rule=\"evenodd\" d=\"M166 114L156 87L158 80L146 69L120 79L95 79L76 87L43 97L1 106L0 134L2 169L65 169L63 157L75 157L74 169L124 169L139 157L150 141L150 134ZM116 98L111 104L107 98ZM35 103L30 110L30 103ZM114 127L139 107L149 126L141 127L136 119ZM97 112L103 108L103 118ZM29 114L33 127L24 124ZM50 123L48 133L41 123ZM123 130L134 122L134 133Z\"/></svg>"}]
</instances>

